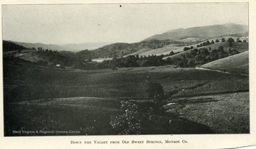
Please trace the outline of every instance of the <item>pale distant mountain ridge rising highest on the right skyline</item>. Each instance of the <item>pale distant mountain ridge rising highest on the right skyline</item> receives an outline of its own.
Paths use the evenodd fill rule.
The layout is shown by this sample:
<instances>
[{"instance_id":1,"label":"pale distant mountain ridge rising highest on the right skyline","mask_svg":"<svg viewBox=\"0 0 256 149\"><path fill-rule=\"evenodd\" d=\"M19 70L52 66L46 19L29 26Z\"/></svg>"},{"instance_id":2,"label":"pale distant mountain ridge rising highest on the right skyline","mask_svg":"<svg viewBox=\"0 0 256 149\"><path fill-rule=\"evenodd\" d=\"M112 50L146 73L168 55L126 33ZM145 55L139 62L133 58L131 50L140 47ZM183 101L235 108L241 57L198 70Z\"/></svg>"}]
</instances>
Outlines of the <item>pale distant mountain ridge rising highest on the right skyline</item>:
<instances>
[{"instance_id":1,"label":"pale distant mountain ridge rising highest on the right skyline","mask_svg":"<svg viewBox=\"0 0 256 149\"><path fill-rule=\"evenodd\" d=\"M177 40L181 38L195 37L195 38L214 38L221 35L229 35L235 33L245 33L248 31L248 26L225 23L223 25L213 26L199 26L193 28L178 28L175 30L167 31L158 35L153 35L145 40L157 39L157 40Z\"/></svg>"}]
</instances>

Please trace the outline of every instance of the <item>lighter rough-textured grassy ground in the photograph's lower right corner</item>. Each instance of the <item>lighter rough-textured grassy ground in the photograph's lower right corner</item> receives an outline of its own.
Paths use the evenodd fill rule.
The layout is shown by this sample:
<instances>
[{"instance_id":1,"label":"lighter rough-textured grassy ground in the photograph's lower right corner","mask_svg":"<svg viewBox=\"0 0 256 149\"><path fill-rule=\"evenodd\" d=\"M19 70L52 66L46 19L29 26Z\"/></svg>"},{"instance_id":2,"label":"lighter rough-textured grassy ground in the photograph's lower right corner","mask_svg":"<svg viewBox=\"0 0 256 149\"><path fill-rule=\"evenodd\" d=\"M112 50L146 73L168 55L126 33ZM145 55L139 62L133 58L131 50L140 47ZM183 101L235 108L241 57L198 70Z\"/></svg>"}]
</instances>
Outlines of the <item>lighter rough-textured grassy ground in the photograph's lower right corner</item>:
<instances>
[{"instance_id":1,"label":"lighter rough-textured grassy ground in the photograph's lower right corner","mask_svg":"<svg viewBox=\"0 0 256 149\"><path fill-rule=\"evenodd\" d=\"M249 92L177 98L166 111L210 126L215 133L249 133Z\"/></svg>"}]
</instances>

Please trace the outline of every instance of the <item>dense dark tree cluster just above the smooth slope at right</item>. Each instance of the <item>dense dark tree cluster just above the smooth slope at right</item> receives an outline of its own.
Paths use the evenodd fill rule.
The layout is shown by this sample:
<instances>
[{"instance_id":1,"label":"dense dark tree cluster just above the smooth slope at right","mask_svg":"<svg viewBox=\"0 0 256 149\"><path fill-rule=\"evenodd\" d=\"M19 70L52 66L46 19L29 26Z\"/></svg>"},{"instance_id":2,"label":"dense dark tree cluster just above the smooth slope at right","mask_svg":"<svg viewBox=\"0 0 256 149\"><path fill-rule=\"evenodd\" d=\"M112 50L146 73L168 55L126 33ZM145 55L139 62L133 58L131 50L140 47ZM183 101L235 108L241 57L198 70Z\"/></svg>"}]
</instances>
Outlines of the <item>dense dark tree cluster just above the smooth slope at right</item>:
<instances>
[{"instance_id":1,"label":"dense dark tree cluster just above the smooth slope at right","mask_svg":"<svg viewBox=\"0 0 256 149\"><path fill-rule=\"evenodd\" d=\"M218 60L230 55L238 54L238 50L228 48L228 52L225 52L223 46L218 49L211 50L210 48L193 49L190 53L181 55L181 57L174 58L174 65L178 67L195 67L196 65L203 65L213 60Z\"/></svg>"}]
</instances>

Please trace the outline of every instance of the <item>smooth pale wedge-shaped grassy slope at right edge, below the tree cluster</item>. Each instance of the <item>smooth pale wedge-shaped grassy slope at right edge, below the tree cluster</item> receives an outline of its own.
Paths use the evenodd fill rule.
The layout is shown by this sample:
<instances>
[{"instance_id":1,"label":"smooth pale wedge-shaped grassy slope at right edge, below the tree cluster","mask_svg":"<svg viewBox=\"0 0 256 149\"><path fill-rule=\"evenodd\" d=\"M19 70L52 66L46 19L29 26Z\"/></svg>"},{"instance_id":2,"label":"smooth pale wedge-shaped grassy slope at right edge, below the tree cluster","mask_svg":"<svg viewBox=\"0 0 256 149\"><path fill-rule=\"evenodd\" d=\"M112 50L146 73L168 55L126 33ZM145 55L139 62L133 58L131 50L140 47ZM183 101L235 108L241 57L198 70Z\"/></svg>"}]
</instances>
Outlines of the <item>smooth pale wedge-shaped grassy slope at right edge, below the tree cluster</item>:
<instances>
[{"instance_id":1,"label":"smooth pale wedge-shaped grassy slope at right edge, below the tree cluster","mask_svg":"<svg viewBox=\"0 0 256 149\"><path fill-rule=\"evenodd\" d=\"M249 52L246 51L238 55L208 62L207 64L202 65L201 68L249 75Z\"/></svg>"}]
</instances>

